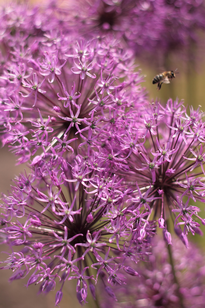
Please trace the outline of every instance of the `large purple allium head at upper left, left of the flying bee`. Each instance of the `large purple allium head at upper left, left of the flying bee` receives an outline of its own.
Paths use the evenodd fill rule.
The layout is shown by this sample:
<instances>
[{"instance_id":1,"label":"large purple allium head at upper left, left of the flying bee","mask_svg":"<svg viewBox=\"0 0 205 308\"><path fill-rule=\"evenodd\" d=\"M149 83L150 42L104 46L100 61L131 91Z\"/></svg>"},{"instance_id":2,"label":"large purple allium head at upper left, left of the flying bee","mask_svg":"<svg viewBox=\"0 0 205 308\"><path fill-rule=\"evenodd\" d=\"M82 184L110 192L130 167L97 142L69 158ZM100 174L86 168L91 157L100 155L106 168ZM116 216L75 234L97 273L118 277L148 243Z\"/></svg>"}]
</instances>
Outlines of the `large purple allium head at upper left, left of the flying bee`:
<instances>
[{"instance_id":1,"label":"large purple allium head at upper left, left of the flying bee","mask_svg":"<svg viewBox=\"0 0 205 308\"><path fill-rule=\"evenodd\" d=\"M89 155L124 135L128 108L146 101L132 52L109 38L73 43L60 30L57 41L50 32L30 38L27 48L28 36L13 38L0 79L1 141L19 163L50 148L57 155L88 148Z\"/></svg>"}]
</instances>

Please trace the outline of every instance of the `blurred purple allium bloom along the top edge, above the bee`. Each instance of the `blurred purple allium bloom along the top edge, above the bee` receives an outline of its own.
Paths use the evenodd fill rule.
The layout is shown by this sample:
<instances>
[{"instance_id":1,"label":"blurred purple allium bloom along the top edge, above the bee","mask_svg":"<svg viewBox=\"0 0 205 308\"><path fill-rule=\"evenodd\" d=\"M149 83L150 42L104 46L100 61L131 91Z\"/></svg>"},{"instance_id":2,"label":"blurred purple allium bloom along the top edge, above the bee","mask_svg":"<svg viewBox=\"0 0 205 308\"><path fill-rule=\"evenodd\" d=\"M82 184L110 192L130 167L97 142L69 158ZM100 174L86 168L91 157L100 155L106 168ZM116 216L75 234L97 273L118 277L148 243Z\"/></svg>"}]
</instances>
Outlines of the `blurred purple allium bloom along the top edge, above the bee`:
<instances>
[{"instance_id":1,"label":"blurred purple allium bloom along the top edge, above the bee","mask_svg":"<svg viewBox=\"0 0 205 308\"><path fill-rule=\"evenodd\" d=\"M196 29L205 28L204 13L203 1L195 0L82 0L74 4L72 22L84 34L111 32L137 54L147 50L163 57L199 40Z\"/></svg>"}]
</instances>

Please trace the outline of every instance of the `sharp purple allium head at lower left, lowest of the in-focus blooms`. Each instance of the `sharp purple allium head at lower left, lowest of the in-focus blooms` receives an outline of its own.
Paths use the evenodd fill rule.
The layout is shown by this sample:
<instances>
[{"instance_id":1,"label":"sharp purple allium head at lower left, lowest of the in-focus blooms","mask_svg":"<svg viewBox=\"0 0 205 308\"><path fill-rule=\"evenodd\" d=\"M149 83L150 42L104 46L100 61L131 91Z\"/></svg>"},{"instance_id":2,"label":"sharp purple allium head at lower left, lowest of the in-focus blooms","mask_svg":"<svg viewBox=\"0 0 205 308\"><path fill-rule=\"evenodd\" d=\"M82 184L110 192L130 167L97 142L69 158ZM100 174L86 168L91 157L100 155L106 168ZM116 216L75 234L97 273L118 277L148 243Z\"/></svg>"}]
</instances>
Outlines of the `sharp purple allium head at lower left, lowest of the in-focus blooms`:
<instances>
[{"instance_id":1,"label":"sharp purple allium head at lower left, lowest of the in-focus blooms","mask_svg":"<svg viewBox=\"0 0 205 308\"><path fill-rule=\"evenodd\" d=\"M129 240L136 225L127 209L132 190L101 158L77 156L71 164L55 155L46 158L32 166L29 176L18 176L10 195L2 198L2 242L12 253L1 269L14 272L10 281L26 277L27 287L39 284L44 293L60 280L56 305L64 283L72 279L81 303L88 285L95 298L98 276L110 294L109 284L124 283L119 271L129 273L128 260L143 259L149 246L148 240Z\"/></svg>"}]
</instances>

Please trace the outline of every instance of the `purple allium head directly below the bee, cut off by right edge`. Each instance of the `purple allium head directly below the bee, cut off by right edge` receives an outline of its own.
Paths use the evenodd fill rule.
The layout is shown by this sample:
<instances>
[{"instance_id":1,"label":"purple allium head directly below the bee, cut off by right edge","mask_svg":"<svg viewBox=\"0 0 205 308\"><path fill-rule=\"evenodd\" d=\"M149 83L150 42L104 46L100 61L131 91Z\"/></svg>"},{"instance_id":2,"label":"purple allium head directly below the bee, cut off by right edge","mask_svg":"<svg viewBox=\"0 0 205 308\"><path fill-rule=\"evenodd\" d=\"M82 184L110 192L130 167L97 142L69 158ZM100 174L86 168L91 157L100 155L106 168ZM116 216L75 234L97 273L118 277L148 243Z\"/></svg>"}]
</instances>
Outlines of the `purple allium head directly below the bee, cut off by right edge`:
<instances>
[{"instance_id":1,"label":"purple allium head directly below the bee, cut off by right edge","mask_svg":"<svg viewBox=\"0 0 205 308\"><path fill-rule=\"evenodd\" d=\"M171 216L175 232L188 246L187 233L201 233L199 226L205 224L195 205L197 200L204 202L205 195L203 113L191 107L188 115L183 101L169 99L166 106L152 103L141 115L136 111L135 117L132 111L132 116L120 145L118 140L112 143L112 152L118 150L118 160L129 169L119 170L133 189L129 209L142 228L142 238L148 234L143 226L155 220L170 244Z\"/></svg>"}]
</instances>

